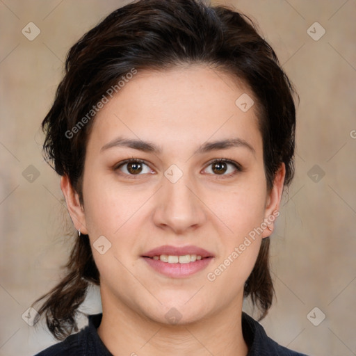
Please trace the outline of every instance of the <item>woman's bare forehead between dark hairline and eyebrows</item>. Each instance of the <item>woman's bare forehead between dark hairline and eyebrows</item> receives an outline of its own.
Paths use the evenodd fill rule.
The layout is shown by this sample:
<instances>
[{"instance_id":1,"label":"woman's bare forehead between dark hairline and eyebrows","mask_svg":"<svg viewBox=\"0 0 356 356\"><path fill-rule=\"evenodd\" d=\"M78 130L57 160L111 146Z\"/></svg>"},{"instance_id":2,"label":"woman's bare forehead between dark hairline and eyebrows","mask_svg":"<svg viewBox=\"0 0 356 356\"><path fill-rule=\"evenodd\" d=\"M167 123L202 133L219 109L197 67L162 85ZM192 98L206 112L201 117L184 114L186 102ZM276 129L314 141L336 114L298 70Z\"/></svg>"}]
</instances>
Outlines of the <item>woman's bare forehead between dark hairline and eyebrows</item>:
<instances>
[{"instance_id":1,"label":"woman's bare forehead between dark hairline and eyebrows","mask_svg":"<svg viewBox=\"0 0 356 356\"><path fill-rule=\"evenodd\" d=\"M138 71L97 113L88 145L124 136L149 140L163 149L183 149L188 143L196 149L209 139L237 136L259 150L261 134L252 98L235 76L208 67Z\"/></svg>"}]
</instances>

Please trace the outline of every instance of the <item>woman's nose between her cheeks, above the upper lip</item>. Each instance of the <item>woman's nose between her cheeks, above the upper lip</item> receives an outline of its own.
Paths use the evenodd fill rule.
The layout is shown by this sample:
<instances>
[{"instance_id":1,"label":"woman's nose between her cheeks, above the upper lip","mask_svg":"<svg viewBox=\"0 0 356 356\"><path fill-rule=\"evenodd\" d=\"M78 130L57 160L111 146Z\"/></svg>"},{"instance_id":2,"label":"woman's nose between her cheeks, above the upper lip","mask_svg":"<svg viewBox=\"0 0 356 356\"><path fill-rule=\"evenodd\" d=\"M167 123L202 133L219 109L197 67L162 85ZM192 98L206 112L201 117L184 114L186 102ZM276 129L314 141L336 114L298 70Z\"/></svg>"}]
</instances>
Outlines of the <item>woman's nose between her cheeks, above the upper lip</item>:
<instances>
[{"instance_id":1,"label":"woman's nose between her cheeks, above the upper lip","mask_svg":"<svg viewBox=\"0 0 356 356\"><path fill-rule=\"evenodd\" d=\"M159 190L154 210L154 224L170 229L175 234L184 234L197 229L206 220L204 202L193 184L193 179L183 175L173 183L162 177L163 186Z\"/></svg>"}]
</instances>

